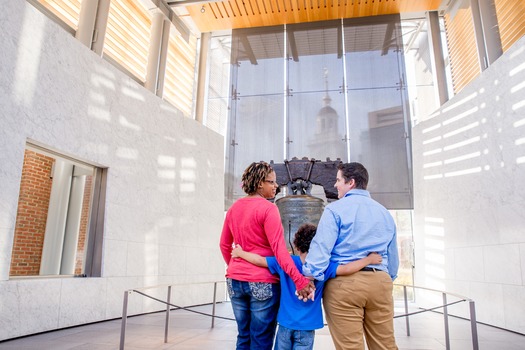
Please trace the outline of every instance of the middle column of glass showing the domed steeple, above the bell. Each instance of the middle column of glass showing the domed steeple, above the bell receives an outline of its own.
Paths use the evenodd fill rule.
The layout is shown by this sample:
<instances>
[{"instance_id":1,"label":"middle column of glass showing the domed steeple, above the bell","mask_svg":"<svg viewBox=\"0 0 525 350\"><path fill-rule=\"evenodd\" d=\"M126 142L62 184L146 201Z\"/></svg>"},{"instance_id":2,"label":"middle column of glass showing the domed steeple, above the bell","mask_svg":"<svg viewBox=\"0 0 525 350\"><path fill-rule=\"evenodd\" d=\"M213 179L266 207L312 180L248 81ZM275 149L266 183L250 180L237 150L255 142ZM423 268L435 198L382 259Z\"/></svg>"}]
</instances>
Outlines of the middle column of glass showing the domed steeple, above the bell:
<instances>
[{"instance_id":1,"label":"middle column of glass showing the domed steeple, above the bell","mask_svg":"<svg viewBox=\"0 0 525 350\"><path fill-rule=\"evenodd\" d=\"M339 21L287 27L287 158L346 159Z\"/></svg>"}]
</instances>

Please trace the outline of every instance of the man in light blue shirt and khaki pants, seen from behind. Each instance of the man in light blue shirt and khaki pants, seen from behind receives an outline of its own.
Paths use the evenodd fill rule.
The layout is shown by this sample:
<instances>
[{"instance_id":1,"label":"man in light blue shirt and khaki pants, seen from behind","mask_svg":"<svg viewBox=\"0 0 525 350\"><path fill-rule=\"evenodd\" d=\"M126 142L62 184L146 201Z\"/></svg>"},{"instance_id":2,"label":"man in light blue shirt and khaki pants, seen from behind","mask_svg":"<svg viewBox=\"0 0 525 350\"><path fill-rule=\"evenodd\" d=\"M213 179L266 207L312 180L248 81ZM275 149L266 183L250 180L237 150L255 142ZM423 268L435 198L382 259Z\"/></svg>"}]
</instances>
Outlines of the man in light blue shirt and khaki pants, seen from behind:
<instances>
[{"instance_id":1,"label":"man in light blue shirt and khaki pants, seen from behind","mask_svg":"<svg viewBox=\"0 0 525 350\"><path fill-rule=\"evenodd\" d=\"M325 286L323 305L336 349L397 349L394 337L393 280L399 256L396 226L388 210L366 191L368 171L360 163L340 164L339 200L326 206L303 265L303 273L325 279L330 263L346 264L379 253L379 266L337 276Z\"/></svg>"}]
</instances>

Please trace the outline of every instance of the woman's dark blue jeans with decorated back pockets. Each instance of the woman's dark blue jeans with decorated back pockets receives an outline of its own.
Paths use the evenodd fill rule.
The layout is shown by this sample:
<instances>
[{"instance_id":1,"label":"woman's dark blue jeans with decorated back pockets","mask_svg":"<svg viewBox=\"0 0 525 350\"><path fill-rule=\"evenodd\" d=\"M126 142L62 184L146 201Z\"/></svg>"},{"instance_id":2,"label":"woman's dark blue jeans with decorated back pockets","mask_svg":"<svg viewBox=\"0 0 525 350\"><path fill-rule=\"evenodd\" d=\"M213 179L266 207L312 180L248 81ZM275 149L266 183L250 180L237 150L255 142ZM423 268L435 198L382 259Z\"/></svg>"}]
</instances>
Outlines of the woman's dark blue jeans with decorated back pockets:
<instances>
[{"instance_id":1,"label":"woman's dark blue jeans with decorated back pockets","mask_svg":"<svg viewBox=\"0 0 525 350\"><path fill-rule=\"evenodd\" d=\"M237 350L271 350L281 287L279 283L227 279L228 293L237 321Z\"/></svg>"}]
</instances>

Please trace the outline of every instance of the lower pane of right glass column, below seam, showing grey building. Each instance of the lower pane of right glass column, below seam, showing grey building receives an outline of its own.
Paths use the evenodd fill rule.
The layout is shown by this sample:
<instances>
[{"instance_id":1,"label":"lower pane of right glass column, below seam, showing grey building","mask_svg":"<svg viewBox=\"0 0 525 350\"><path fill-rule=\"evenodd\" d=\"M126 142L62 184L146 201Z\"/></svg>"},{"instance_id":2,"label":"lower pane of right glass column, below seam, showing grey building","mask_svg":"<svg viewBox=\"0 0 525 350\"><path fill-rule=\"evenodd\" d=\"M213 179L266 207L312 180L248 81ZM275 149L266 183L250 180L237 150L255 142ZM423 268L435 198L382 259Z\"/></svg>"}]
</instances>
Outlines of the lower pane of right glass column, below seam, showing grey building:
<instances>
[{"instance_id":1,"label":"lower pane of right glass column, below seam, showing grey building","mask_svg":"<svg viewBox=\"0 0 525 350\"><path fill-rule=\"evenodd\" d=\"M389 209L411 208L403 106L397 89L348 93L350 159L366 166L372 197Z\"/></svg>"}]
</instances>

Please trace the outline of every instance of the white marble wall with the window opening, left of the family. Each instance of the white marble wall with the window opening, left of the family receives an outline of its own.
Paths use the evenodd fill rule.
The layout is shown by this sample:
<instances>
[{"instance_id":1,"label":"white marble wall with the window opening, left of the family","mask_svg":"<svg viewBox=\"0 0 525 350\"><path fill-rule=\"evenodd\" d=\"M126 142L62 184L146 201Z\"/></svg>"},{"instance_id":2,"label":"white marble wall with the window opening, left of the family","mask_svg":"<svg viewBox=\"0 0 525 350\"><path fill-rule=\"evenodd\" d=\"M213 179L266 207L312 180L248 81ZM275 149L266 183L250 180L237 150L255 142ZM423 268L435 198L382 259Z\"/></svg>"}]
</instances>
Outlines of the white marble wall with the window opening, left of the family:
<instances>
[{"instance_id":1,"label":"white marble wall with the window opening, left of the family","mask_svg":"<svg viewBox=\"0 0 525 350\"><path fill-rule=\"evenodd\" d=\"M0 340L119 317L127 289L222 280L222 136L184 118L27 2L2 5ZM101 278L9 280L28 139L109 168ZM211 302L212 291L212 284L185 285L173 301ZM130 314L163 308L130 299Z\"/></svg>"}]
</instances>

